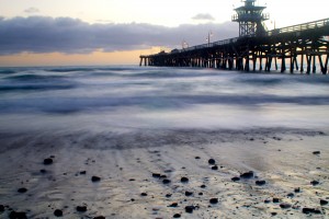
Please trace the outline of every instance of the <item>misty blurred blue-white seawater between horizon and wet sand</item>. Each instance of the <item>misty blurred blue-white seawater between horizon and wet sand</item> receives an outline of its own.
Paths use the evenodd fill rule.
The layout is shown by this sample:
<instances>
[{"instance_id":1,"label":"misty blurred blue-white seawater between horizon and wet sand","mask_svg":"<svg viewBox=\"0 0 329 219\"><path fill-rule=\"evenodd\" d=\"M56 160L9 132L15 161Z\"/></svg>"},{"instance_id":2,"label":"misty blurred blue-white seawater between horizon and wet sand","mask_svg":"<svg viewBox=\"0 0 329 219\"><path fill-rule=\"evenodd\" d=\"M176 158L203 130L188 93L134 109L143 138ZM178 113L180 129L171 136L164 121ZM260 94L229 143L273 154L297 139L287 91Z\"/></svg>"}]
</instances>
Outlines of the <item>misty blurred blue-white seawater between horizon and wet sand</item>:
<instances>
[{"instance_id":1,"label":"misty blurred blue-white seawater between horizon and wet sand","mask_svg":"<svg viewBox=\"0 0 329 219\"><path fill-rule=\"evenodd\" d=\"M329 77L213 69L0 69L0 131L329 129Z\"/></svg>"}]
</instances>

